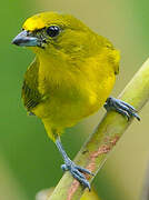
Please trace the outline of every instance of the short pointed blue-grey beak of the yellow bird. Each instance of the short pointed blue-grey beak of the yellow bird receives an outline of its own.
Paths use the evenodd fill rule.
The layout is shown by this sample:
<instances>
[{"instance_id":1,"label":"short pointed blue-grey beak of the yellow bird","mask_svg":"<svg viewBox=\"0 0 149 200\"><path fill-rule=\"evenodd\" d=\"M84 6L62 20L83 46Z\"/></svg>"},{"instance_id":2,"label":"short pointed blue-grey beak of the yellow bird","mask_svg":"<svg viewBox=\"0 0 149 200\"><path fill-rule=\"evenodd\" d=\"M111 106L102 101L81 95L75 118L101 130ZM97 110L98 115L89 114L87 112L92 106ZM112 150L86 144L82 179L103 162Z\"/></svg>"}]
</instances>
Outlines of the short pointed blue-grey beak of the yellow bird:
<instances>
[{"instance_id":1,"label":"short pointed blue-grey beak of the yellow bird","mask_svg":"<svg viewBox=\"0 0 149 200\"><path fill-rule=\"evenodd\" d=\"M40 41L23 30L12 40L12 43L20 47L37 47L40 44Z\"/></svg>"}]
</instances>

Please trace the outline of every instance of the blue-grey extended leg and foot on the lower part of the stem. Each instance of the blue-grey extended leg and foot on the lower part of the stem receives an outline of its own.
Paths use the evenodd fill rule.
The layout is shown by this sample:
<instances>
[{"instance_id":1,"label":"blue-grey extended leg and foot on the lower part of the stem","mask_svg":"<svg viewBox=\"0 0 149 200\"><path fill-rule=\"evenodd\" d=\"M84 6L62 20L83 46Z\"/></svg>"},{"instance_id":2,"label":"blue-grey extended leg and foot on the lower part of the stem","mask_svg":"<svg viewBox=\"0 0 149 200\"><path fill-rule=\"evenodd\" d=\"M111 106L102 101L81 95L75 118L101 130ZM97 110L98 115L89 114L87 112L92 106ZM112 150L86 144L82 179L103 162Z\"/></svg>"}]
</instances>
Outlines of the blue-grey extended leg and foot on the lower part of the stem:
<instances>
[{"instance_id":1,"label":"blue-grey extended leg and foot on the lower part of the stem","mask_svg":"<svg viewBox=\"0 0 149 200\"><path fill-rule=\"evenodd\" d=\"M85 188L88 188L90 191L90 183L88 182L88 180L86 179L83 173L91 174L91 176L93 176L93 173L91 173L89 170L87 170L85 168L81 168L81 167L74 164L74 162L72 162L69 159L68 154L66 153L66 151L62 147L60 138L58 138L56 140L56 146L59 149L60 153L62 154L62 158L64 161L64 164L61 166L61 169L63 171L69 171L74 179L77 179Z\"/></svg>"}]
</instances>

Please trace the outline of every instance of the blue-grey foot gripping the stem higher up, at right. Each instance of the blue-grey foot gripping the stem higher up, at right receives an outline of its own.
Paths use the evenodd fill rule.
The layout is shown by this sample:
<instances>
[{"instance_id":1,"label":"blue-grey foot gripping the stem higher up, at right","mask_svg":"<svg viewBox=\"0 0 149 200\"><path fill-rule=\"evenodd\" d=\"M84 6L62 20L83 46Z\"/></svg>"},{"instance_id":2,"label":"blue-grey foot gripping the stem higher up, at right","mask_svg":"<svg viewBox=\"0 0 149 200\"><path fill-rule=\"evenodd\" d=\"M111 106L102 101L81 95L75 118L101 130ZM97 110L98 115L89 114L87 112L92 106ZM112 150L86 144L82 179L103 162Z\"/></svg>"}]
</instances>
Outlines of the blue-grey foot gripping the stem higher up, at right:
<instances>
[{"instance_id":1,"label":"blue-grey foot gripping the stem higher up, at right","mask_svg":"<svg viewBox=\"0 0 149 200\"><path fill-rule=\"evenodd\" d=\"M116 99L109 97L105 103L105 108L107 111L115 110L122 116L127 117L129 120L131 117L135 117L140 121L140 117L137 114L137 110L129 103L121 101L120 99Z\"/></svg>"}]
</instances>

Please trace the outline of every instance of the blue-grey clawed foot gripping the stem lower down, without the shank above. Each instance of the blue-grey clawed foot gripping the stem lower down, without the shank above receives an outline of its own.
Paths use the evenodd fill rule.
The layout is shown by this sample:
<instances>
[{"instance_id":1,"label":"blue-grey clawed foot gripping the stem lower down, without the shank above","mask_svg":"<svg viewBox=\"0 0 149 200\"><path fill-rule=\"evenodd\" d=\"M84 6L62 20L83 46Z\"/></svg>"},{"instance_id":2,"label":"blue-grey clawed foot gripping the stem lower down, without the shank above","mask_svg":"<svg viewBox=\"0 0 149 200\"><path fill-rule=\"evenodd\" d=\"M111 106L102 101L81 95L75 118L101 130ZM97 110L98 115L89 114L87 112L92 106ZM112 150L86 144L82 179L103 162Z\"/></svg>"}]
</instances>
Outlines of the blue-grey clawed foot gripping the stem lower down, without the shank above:
<instances>
[{"instance_id":1,"label":"blue-grey clawed foot gripping the stem lower down, without the shank above","mask_svg":"<svg viewBox=\"0 0 149 200\"><path fill-rule=\"evenodd\" d=\"M77 179L85 188L88 188L90 191L90 189L91 189L90 183L86 179L83 173L87 173L90 176L93 176L93 173L91 173L89 170L87 170L85 168L81 168L81 167L74 164L74 162L72 162L70 159L67 159L64 161L64 164L61 166L61 169L63 171L69 171L74 179Z\"/></svg>"}]
</instances>

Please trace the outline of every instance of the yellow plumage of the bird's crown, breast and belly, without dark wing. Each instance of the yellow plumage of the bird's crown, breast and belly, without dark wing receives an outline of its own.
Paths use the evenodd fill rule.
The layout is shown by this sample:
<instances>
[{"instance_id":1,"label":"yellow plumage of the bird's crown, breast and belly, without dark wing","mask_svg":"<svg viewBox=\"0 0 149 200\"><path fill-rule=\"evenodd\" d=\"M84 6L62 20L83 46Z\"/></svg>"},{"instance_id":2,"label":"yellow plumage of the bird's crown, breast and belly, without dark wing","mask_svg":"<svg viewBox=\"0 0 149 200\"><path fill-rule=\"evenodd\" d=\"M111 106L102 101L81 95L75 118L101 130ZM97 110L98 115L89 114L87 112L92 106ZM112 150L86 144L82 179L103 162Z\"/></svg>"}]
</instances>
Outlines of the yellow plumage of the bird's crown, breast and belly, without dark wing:
<instances>
[{"instance_id":1,"label":"yellow plumage of the bird's crown, breast and belly, without dark wing","mask_svg":"<svg viewBox=\"0 0 149 200\"><path fill-rule=\"evenodd\" d=\"M119 71L119 52L106 38L67 14L43 12L29 18L23 29L32 33L42 29L46 34L52 24L61 28L60 36L47 37L42 49L31 47L39 60L34 76L42 97L31 112L41 118L48 136L56 140L64 128L103 106Z\"/></svg>"}]
</instances>

